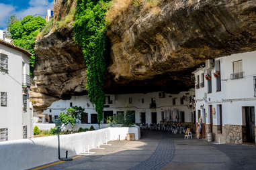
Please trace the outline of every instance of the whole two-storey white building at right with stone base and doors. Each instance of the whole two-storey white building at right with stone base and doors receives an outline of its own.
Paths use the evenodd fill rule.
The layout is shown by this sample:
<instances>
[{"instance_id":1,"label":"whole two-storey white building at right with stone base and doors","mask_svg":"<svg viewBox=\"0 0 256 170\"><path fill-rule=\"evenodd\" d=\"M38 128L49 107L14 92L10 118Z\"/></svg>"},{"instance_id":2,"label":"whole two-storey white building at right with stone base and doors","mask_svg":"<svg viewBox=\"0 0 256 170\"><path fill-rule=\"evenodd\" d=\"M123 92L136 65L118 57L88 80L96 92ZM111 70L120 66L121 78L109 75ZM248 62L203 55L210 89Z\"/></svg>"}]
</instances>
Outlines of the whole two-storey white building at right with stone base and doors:
<instances>
[{"instance_id":1,"label":"whole two-storey white building at right with stone base and doors","mask_svg":"<svg viewBox=\"0 0 256 170\"><path fill-rule=\"evenodd\" d=\"M255 143L256 52L208 60L194 75L203 137L213 133L222 143Z\"/></svg>"}]
</instances>

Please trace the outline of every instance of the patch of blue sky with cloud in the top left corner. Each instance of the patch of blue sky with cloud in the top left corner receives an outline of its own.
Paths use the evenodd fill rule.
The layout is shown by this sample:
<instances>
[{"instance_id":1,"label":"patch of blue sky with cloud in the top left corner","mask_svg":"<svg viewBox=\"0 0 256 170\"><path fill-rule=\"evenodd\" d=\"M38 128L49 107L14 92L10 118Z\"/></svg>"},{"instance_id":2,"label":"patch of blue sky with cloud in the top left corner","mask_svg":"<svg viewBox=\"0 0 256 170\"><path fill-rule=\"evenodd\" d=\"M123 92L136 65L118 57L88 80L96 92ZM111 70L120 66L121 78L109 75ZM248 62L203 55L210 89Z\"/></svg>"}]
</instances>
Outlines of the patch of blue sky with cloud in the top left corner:
<instances>
[{"instance_id":1,"label":"patch of blue sky with cloud in the top left corner","mask_svg":"<svg viewBox=\"0 0 256 170\"><path fill-rule=\"evenodd\" d=\"M0 0L0 29L6 29L7 21L13 14L22 19L26 15L46 15L53 0ZM46 6L46 2L48 6Z\"/></svg>"}]
</instances>

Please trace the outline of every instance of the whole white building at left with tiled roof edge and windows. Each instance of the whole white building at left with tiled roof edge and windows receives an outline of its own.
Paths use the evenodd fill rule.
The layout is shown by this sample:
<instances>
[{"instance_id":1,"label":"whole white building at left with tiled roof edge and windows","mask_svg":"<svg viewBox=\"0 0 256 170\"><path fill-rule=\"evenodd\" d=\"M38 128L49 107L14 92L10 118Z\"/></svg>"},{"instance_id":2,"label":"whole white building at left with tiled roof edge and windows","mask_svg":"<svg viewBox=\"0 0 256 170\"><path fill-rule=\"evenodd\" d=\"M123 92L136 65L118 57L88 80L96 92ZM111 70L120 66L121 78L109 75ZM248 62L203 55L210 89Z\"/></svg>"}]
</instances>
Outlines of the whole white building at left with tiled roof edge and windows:
<instances>
[{"instance_id":1,"label":"whole white building at left with tiled roof edge and windows","mask_svg":"<svg viewBox=\"0 0 256 170\"><path fill-rule=\"evenodd\" d=\"M0 141L33 136L29 102L31 54L0 39Z\"/></svg>"}]
</instances>

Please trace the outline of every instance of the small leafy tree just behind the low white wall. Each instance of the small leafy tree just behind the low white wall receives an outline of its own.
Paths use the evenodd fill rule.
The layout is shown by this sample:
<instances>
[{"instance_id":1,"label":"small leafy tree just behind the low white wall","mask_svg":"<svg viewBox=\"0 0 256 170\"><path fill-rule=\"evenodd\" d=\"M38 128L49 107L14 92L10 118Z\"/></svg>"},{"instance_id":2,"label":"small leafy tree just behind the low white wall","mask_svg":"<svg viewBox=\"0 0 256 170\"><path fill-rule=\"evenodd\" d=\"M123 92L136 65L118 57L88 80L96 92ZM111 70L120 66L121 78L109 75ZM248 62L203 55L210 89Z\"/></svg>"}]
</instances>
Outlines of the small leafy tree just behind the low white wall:
<instances>
[{"instance_id":1,"label":"small leafy tree just behind the low white wall","mask_svg":"<svg viewBox=\"0 0 256 170\"><path fill-rule=\"evenodd\" d=\"M67 112L60 112L61 122L67 126L71 124L71 131L74 132L75 124L79 123L81 120L81 115L85 113L85 109L81 106L73 106L67 109Z\"/></svg>"}]
</instances>

